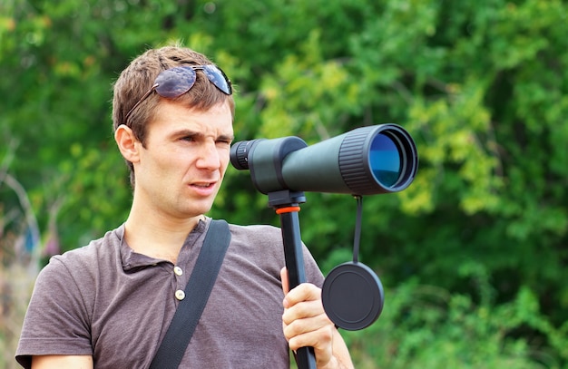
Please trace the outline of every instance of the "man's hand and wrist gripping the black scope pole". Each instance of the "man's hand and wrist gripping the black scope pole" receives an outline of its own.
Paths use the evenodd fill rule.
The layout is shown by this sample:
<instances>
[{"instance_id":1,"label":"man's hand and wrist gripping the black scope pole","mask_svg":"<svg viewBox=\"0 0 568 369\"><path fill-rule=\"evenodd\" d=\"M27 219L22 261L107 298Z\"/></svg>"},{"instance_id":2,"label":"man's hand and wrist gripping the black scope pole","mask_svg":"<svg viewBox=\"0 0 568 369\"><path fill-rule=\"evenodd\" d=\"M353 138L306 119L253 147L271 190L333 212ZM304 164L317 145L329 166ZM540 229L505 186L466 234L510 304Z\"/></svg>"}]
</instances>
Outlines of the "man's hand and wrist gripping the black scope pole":
<instances>
[{"instance_id":1,"label":"man's hand and wrist gripping the black scope pole","mask_svg":"<svg viewBox=\"0 0 568 369\"><path fill-rule=\"evenodd\" d=\"M296 351L300 347L313 347L318 368L352 367L347 347L323 309L321 289L302 283L289 291L285 267L280 271L280 277L285 295L282 328L290 349ZM334 348L340 354L334 355ZM343 360L339 356L343 356ZM342 362L351 366L340 365Z\"/></svg>"}]
</instances>

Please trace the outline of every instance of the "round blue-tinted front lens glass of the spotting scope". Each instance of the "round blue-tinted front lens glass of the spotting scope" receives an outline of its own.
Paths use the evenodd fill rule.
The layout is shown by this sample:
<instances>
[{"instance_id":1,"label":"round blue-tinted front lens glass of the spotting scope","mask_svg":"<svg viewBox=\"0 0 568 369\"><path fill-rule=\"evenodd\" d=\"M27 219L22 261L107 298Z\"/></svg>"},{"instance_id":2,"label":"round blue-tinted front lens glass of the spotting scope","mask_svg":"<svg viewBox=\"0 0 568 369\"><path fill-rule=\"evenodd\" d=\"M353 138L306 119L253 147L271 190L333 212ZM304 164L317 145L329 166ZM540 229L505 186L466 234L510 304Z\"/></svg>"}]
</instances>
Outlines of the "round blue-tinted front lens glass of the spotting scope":
<instances>
[{"instance_id":1,"label":"round blue-tinted front lens glass of the spotting scope","mask_svg":"<svg viewBox=\"0 0 568 369\"><path fill-rule=\"evenodd\" d=\"M373 175L385 187L394 186L402 171L402 160L397 144L389 136L379 133L371 142L369 164Z\"/></svg>"}]
</instances>

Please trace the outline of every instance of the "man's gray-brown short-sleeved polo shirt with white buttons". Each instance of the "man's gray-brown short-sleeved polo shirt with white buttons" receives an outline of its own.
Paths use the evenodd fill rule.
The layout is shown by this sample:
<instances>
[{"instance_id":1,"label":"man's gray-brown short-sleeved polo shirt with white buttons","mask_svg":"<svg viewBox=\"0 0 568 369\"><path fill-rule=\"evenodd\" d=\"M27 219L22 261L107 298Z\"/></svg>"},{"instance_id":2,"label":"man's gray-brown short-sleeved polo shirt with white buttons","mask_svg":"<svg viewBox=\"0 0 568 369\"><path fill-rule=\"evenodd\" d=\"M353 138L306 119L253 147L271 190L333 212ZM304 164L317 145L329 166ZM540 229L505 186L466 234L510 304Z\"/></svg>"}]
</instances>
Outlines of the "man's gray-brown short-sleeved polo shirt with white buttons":
<instances>
[{"instance_id":1,"label":"man's gray-brown short-sleeved polo shirt with white buttons","mask_svg":"<svg viewBox=\"0 0 568 369\"><path fill-rule=\"evenodd\" d=\"M171 322L211 219L181 248L177 265L133 252L123 226L52 257L38 276L16 359L92 354L96 368L147 368ZM230 225L231 241L182 368L289 368L282 334L279 228ZM304 248L308 282L323 276ZM177 294L176 294L177 292Z\"/></svg>"}]
</instances>

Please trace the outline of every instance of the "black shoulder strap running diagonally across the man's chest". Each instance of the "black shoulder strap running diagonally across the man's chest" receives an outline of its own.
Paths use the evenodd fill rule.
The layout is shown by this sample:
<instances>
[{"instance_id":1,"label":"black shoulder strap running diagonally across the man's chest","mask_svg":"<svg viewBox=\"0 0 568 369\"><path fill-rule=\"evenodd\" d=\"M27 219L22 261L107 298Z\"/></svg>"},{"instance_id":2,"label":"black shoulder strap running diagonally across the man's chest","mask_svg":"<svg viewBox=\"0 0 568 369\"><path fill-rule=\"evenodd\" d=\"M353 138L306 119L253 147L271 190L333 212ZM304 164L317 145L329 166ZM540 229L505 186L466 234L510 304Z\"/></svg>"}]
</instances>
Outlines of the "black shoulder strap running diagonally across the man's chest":
<instances>
[{"instance_id":1,"label":"black shoulder strap running diagonally across the man's chest","mask_svg":"<svg viewBox=\"0 0 568 369\"><path fill-rule=\"evenodd\" d=\"M181 363L211 289L215 285L229 243L230 231L227 222L211 220L200 255L185 287L185 298L180 301L171 319L150 369L175 369Z\"/></svg>"}]
</instances>

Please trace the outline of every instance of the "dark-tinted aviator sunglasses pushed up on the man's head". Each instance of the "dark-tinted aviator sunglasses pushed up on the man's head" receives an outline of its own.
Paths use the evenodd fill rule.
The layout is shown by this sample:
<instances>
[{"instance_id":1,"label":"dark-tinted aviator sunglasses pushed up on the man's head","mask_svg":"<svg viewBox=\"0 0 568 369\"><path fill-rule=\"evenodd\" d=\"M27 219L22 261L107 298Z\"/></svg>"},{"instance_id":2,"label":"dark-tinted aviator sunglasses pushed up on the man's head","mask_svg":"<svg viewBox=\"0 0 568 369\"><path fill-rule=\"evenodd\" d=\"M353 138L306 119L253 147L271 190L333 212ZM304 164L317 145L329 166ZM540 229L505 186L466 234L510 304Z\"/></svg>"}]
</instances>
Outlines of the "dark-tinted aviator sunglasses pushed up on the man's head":
<instances>
[{"instance_id":1,"label":"dark-tinted aviator sunglasses pushed up on the man's head","mask_svg":"<svg viewBox=\"0 0 568 369\"><path fill-rule=\"evenodd\" d=\"M162 73L158 74L150 90L144 93L142 98L136 102L134 106L132 106L132 109L129 112L126 113L124 122L128 121L132 112L134 112L134 110L154 91L158 92L160 96L165 97L166 99L174 99L185 92L189 92L197 79L197 73L195 71L203 71L203 73L207 76L207 79L221 92L228 95L232 93L229 78L227 78L227 75L216 65L187 65L166 69L165 71L162 71Z\"/></svg>"}]
</instances>

